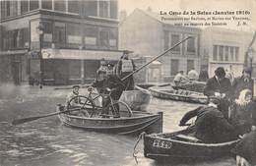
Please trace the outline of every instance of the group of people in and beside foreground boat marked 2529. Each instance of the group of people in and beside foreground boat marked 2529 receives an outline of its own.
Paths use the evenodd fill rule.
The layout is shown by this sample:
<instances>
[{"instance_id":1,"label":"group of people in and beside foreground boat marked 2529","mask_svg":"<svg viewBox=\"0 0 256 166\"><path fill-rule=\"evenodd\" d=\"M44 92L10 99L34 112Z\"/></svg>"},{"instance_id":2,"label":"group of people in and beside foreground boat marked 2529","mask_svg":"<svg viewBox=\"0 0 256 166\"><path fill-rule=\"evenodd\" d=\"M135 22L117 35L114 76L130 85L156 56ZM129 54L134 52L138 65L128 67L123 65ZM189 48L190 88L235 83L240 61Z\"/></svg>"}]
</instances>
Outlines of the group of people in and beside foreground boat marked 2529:
<instances>
[{"instance_id":1,"label":"group of people in and beside foreground boat marked 2529","mask_svg":"<svg viewBox=\"0 0 256 166\"><path fill-rule=\"evenodd\" d=\"M192 117L195 137L206 143L224 142L242 138L233 150L237 165L256 164L256 103L253 97L251 69L245 68L242 76L231 83L225 78L224 68L217 68L209 79L204 94L209 96L208 106L200 106L186 113L180 126ZM247 164L247 165L246 165Z\"/></svg>"}]
</instances>

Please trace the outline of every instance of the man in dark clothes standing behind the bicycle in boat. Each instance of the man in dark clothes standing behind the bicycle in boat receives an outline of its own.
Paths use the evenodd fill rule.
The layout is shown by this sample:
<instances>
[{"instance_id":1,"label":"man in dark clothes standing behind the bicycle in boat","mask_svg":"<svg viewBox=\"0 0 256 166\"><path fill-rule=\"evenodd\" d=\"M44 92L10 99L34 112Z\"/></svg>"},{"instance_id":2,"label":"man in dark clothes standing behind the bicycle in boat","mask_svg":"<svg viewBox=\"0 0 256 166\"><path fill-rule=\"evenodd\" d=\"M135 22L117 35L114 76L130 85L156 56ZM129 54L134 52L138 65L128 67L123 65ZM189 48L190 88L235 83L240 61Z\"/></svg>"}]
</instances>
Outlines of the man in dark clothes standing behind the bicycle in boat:
<instances>
[{"instance_id":1,"label":"man in dark clothes standing behind the bicycle in boat","mask_svg":"<svg viewBox=\"0 0 256 166\"><path fill-rule=\"evenodd\" d=\"M122 83L122 81L113 74L113 65L112 64L108 64L109 65L109 70L106 73L106 78L104 78L101 81L96 81L95 83L92 84L93 87L96 88L100 88L100 91L98 91L99 93L102 94L110 94L110 97L113 100L119 100L123 90L125 90L125 85L124 83ZM102 98L102 113L103 115L107 115L108 111L106 108L107 106L110 104L110 98L105 96ZM114 105L115 106L115 110L111 110L112 114L114 116L114 118L119 118L120 114L119 114L119 106L118 104ZM107 116L104 116L107 117Z\"/></svg>"}]
</instances>

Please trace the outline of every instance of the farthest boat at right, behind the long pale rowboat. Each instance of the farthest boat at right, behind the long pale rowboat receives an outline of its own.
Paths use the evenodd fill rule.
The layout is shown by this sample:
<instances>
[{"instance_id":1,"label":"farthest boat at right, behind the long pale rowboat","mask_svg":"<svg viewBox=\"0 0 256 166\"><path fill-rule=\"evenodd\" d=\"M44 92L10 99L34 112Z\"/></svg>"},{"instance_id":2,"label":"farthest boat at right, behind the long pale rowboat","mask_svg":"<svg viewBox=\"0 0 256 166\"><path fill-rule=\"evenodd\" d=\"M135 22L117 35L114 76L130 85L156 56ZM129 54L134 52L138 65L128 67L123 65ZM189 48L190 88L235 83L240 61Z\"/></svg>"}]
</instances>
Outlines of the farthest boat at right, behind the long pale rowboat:
<instances>
[{"instance_id":1,"label":"farthest boat at right, behind the long pale rowboat","mask_svg":"<svg viewBox=\"0 0 256 166\"><path fill-rule=\"evenodd\" d=\"M188 82L188 83L181 83L179 85L172 85L174 89L185 89L185 90L190 90L190 91L197 91L197 92L203 92L204 88L206 86L205 82Z\"/></svg>"}]
</instances>

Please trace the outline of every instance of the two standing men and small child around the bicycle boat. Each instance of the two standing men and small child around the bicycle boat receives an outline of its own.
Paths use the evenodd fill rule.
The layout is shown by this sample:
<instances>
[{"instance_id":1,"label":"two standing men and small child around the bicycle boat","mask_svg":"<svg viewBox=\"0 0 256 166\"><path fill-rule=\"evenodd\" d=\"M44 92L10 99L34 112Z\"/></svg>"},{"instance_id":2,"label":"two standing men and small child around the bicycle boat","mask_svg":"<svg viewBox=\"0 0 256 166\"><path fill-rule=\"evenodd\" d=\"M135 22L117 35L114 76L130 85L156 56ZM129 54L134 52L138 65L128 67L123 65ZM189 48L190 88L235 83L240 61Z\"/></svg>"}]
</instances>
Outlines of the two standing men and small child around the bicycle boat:
<instances>
[{"instance_id":1,"label":"two standing men and small child around the bicycle boat","mask_svg":"<svg viewBox=\"0 0 256 166\"><path fill-rule=\"evenodd\" d=\"M111 62L106 62L104 59L100 61L100 67L96 71L96 80L92 84L92 87L96 87L96 90L100 94L107 94L113 100L118 100L124 90L133 90L134 89L134 79L133 76L129 76L135 71L135 64L132 59L129 59L128 54L130 51L124 51L120 60L114 65ZM126 78L128 77L128 78ZM75 96L79 95L79 85L73 86L73 91L66 98L67 104ZM92 88L90 87L90 88ZM109 97L102 97L102 115L108 114L107 106L110 104ZM119 106L118 104L114 105L115 109L111 110L114 118L119 118ZM107 118L104 116L103 118Z\"/></svg>"}]
</instances>

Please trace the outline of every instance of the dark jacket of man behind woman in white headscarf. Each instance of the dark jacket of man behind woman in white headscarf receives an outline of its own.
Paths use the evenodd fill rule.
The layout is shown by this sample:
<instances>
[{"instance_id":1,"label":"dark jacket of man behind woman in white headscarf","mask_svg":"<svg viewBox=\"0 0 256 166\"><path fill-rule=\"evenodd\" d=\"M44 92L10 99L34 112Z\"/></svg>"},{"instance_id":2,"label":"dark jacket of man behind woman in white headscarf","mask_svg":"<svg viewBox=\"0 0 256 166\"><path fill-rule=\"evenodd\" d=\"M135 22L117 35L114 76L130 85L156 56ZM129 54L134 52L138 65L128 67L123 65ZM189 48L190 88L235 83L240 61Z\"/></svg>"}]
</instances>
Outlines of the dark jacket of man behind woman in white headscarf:
<instances>
[{"instance_id":1,"label":"dark jacket of man behind woman in white headscarf","mask_svg":"<svg viewBox=\"0 0 256 166\"><path fill-rule=\"evenodd\" d=\"M242 76L239 78L235 78L233 82L234 98L238 98L240 91L245 88L250 89L253 96L254 81L252 79L249 79L249 82L245 82Z\"/></svg>"}]
</instances>

